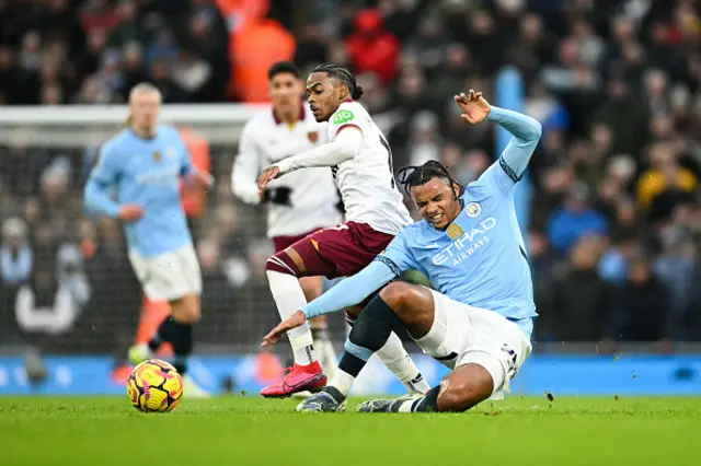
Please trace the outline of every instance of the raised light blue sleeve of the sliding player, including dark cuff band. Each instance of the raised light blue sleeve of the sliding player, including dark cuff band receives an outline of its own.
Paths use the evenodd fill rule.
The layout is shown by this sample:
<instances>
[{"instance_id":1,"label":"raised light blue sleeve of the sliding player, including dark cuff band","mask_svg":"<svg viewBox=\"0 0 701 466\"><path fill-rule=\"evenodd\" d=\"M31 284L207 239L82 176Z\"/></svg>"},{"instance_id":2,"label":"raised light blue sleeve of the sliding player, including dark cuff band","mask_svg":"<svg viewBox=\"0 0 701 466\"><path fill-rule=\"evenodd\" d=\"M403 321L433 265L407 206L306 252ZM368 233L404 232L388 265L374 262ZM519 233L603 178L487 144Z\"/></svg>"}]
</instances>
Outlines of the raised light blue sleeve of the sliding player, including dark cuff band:
<instances>
[{"instance_id":1,"label":"raised light blue sleeve of the sliding player, including dark cuff band","mask_svg":"<svg viewBox=\"0 0 701 466\"><path fill-rule=\"evenodd\" d=\"M486 120L510 132L512 140L499 160L484 172L481 180L494 183L502 193L512 195L515 184L521 179L528 167L540 140L542 127L535 118L495 106L492 106Z\"/></svg>"}]
</instances>

